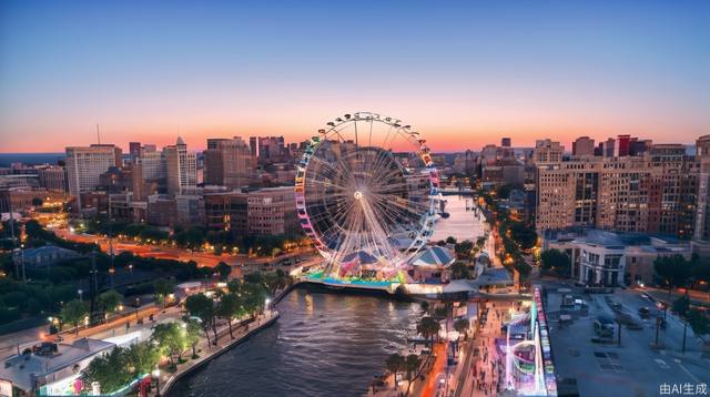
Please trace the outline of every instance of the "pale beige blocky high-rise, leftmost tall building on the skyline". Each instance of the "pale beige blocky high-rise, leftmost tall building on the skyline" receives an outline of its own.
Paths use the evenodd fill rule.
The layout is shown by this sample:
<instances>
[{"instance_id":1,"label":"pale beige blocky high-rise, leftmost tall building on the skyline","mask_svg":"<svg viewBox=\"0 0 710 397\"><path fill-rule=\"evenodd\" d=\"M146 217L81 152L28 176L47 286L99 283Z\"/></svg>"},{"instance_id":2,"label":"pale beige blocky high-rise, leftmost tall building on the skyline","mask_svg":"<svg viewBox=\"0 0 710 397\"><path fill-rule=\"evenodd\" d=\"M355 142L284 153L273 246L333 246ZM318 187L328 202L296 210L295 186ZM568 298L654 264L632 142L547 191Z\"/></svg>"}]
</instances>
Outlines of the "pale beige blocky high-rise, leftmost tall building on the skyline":
<instances>
[{"instance_id":1,"label":"pale beige blocky high-rise, leftmost tall building on the skyline","mask_svg":"<svg viewBox=\"0 0 710 397\"><path fill-rule=\"evenodd\" d=\"M100 175L110 166L122 163L121 149L112 144L67 147L67 174L69 192L77 197L81 207L81 192L92 191L100 183Z\"/></svg>"}]
</instances>

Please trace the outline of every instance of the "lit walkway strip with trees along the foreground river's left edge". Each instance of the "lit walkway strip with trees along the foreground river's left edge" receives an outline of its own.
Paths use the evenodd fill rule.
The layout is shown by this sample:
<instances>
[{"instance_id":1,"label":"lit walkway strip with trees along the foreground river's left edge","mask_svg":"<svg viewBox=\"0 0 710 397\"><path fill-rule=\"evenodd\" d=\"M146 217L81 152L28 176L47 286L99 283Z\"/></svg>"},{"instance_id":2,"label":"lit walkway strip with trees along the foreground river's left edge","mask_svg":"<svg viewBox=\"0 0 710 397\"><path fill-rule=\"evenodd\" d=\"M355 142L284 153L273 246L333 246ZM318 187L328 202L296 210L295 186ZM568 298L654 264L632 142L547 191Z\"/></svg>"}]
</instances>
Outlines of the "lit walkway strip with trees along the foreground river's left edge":
<instances>
[{"instance_id":1,"label":"lit walkway strip with trees along the foreground river's left edge","mask_svg":"<svg viewBox=\"0 0 710 397\"><path fill-rule=\"evenodd\" d=\"M247 324L246 327L235 329L234 333L236 335L234 339L227 338L226 343L223 343L222 346L220 346L219 343L217 346L211 346L206 339L201 340L197 345L197 348L201 353L200 358L191 359L184 364L178 365L178 370L172 374L161 374L160 394L169 395L170 388L175 384L175 381L178 381L185 375L189 375L194 370L202 368L205 364L229 352L231 348L246 340L252 335L273 325L278 319L278 317L281 317L281 314L277 311L267 311L266 314L260 315L253 323ZM229 327L220 328L217 330L217 335L220 337L229 336Z\"/></svg>"}]
</instances>

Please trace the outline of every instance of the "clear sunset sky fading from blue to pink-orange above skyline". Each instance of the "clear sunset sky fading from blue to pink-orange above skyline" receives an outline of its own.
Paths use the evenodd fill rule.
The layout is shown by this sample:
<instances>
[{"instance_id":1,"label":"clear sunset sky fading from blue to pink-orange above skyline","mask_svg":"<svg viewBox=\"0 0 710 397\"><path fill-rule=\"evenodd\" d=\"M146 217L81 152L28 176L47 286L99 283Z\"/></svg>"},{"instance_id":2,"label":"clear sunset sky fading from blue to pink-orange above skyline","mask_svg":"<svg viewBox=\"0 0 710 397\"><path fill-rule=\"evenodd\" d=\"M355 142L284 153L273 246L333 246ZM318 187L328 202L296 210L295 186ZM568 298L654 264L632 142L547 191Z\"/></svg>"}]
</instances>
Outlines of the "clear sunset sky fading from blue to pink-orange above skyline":
<instances>
[{"instance_id":1,"label":"clear sunset sky fading from blue to pink-orange above skyline","mask_svg":"<svg viewBox=\"0 0 710 397\"><path fill-rule=\"evenodd\" d=\"M2 1L0 152L303 140L344 113L435 151L710 134L710 1Z\"/></svg>"}]
</instances>

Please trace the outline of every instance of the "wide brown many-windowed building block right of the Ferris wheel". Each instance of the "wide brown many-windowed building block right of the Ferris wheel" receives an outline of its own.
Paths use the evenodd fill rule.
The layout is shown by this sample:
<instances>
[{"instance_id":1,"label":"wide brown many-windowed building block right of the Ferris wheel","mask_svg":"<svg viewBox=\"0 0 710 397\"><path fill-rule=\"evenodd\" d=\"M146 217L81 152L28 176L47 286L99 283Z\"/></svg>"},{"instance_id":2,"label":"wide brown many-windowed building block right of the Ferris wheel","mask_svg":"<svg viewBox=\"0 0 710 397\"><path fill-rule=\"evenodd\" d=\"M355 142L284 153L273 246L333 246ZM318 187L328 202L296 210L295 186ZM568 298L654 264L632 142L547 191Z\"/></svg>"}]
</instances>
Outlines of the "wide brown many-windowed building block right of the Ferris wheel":
<instances>
[{"instance_id":1,"label":"wide brown many-windowed building block right of the Ferris wheel","mask_svg":"<svg viewBox=\"0 0 710 397\"><path fill-rule=\"evenodd\" d=\"M580 157L537 169L536 227L571 226L690 238L698 166L679 144L642 156Z\"/></svg>"}]
</instances>

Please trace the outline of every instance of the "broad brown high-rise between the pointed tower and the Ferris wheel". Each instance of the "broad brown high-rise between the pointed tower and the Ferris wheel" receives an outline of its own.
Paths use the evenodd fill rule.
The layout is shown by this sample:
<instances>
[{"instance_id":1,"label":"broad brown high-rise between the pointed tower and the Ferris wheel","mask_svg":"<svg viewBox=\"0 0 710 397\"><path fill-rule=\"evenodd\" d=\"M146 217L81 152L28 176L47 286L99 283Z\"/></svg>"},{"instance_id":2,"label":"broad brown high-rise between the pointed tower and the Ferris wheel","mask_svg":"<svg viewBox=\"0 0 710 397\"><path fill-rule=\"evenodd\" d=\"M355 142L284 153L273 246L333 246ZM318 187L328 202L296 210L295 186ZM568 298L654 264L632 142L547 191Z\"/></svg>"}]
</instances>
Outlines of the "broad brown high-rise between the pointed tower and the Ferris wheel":
<instances>
[{"instance_id":1,"label":"broad brown high-rise between the pointed tower and the Ferris wheel","mask_svg":"<svg viewBox=\"0 0 710 397\"><path fill-rule=\"evenodd\" d=\"M248 185L254 177L250 146L239 136L209 139L204 151L204 183L231 189Z\"/></svg>"}]
</instances>

